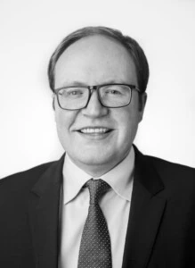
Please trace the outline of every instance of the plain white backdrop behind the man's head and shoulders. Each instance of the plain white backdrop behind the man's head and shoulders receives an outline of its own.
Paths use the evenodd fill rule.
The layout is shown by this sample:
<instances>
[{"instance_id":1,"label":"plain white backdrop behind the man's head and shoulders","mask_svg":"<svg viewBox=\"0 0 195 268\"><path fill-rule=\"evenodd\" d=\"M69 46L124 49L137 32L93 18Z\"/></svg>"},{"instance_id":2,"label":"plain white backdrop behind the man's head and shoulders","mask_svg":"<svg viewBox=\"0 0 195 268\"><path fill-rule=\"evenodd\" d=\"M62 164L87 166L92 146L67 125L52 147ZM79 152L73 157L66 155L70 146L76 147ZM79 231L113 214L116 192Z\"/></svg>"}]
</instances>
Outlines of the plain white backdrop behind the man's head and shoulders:
<instances>
[{"instance_id":1,"label":"plain white backdrop behind the man's head and shoulders","mask_svg":"<svg viewBox=\"0 0 195 268\"><path fill-rule=\"evenodd\" d=\"M194 0L1 0L0 178L63 153L47 64L62 38L89 25L122 30L147 55L148 102L134 143L195 167Z\"/></svg>"}]
</instances>

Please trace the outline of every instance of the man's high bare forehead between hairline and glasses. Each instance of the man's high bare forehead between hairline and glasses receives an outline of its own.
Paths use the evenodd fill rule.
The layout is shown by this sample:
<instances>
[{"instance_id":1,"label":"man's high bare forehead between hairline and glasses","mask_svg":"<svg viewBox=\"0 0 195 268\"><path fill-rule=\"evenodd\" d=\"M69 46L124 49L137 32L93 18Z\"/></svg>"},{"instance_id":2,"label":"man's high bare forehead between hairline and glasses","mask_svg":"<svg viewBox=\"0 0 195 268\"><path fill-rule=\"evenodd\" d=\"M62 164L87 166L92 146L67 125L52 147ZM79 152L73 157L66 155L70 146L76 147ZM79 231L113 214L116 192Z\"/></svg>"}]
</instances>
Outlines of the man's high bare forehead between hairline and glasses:
<instances>
[{"instance_id":1,"label":"man's high bare forehead between hairline and glasses","mask_svg":"<svg viewBox=\"0 0 195 268\"><path fill-rule=\"evenodd\" d=\"M95 35L79 39L58 59L55 66L56 83L58 80L69 83L73 78L93 84L109 80L133 83L136 82L136 71L125 46L113 38Z\"/></svg>"}]
</instances>

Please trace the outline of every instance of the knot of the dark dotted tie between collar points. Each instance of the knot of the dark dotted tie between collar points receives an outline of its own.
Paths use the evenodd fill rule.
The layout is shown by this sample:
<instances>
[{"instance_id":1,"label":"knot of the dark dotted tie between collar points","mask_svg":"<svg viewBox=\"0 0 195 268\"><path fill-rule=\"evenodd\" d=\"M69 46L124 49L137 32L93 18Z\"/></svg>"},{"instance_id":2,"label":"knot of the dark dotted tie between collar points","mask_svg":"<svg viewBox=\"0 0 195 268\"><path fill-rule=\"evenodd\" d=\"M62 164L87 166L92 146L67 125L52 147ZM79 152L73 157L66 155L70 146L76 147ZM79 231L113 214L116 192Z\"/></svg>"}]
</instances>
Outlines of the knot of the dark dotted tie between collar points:
<instances>
[{"instance_id":1,"label":"knot of the dark dotted tie between collar points","mask_svg":"<svg viewBox=\"0 0 195 268\"><path fill-rule=\"evenodd\" d=\"M89 189L90 204L98 204L100 197L110 188L110 185L102 179L88 180L85 187Z\"/></svg>"}]
</instances>

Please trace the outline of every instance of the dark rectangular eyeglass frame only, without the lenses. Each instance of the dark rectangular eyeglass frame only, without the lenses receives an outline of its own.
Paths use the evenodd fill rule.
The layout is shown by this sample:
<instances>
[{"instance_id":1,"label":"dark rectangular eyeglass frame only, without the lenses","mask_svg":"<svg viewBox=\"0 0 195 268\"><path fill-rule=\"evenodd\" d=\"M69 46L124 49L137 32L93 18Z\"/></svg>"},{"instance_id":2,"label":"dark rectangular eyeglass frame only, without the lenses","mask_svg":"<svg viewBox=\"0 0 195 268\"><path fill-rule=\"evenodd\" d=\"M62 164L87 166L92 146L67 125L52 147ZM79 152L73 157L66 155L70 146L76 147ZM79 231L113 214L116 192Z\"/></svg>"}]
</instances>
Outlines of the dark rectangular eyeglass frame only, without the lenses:
<instances>
[{"instance_id":1,"label":"dark rectangular eyeglass frame only, without the lenses","mask_svg":"<svg viewBox=\"0 0 195 268\"><path fill-rule=\"evenodd\" d=\"M104 105L102 103L102 99L101 99L101 96L100 96L100 88L102 87L106 87L106 86L126 86L129 88L129 90L131 91L131 97L130 97L130 100L129 102L126 104L126 105L122 105L122 106L108 106L108 105ZM84 107L81 107L81 108L78 108L78 109L67 109L67 108L62 108L61 107L61 104L60 104L60 100L59 100L59 91L61 91L61 89L66 89L66 88L86 88L89 90L89 95L88 95L88 100L86 101L86 105ZM136 91L138 91L138 93L142 94L142 91L137 88L136 86L134 85L131 85L131 84L121 84L121 83L114 83L114 84L102 84L102 85L95 85L95 86L69 86L69 87L61 87L61 88L56 88L53 90L53 94L57 96L57 100L58 100L58 105L61 107L62 110L69 110L69 111L77 111L77 110L81 110L81 109L84 109L85 107L87 107L90 99L91 99L91 96L92 96L92 92L93 90L97 90L97 96L98 96L98 100L99 102L101 103L101 105L103 107L107 107L107 108L122 108L122 107L126 107L128 105L130 105L131 103L131 100L132 100L132 90L135 89Z\"/></svg>"}]
</instances>

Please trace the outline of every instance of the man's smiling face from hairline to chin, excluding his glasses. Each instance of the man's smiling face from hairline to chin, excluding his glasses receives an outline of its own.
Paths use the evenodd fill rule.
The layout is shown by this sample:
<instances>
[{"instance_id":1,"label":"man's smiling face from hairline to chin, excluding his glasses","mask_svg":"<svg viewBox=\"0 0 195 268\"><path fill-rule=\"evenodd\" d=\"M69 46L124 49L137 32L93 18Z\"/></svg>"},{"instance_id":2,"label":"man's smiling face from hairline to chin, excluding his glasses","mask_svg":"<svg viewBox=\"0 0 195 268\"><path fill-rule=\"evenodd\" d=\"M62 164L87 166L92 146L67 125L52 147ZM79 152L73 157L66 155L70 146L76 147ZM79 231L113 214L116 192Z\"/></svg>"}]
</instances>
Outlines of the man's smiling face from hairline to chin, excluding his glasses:
<instances>
[{"instance_id":1,"label":"man's smiling face from hairline to chin, excluding his glasses","mask_svg":"<svg viewBox=\"0 0 195 268\"><path fill-rule=\"evenodd\" d=\"M124 83L138 86L134 62L126 48L103 36L82 38L61 54L55 67L55 88L77 85ZM132 91L131 104L121 108L103 107L93 95L87 107L62 110L55 97L55 121L62 147L80 168L101 176L128 154L142 107L138 92ZM105 130L102 131L102 130Z\"/></svg>"}]
</instances>

